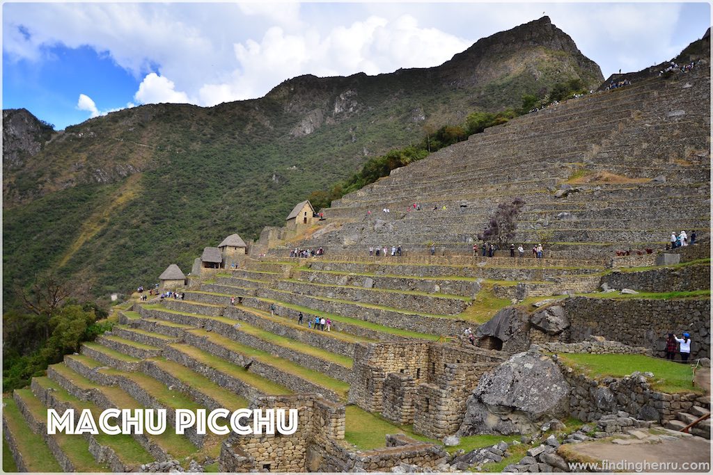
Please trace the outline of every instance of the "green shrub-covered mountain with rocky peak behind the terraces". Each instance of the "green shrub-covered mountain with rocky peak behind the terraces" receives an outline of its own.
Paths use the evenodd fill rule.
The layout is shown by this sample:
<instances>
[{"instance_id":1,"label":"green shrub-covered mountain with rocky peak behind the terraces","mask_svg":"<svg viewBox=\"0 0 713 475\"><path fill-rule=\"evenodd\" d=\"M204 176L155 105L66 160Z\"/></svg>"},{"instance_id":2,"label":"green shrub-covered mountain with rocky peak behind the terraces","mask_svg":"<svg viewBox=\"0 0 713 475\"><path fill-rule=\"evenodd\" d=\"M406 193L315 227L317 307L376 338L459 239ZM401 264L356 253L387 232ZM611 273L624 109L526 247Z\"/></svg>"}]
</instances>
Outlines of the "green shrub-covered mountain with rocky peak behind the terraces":
<instances>
[{"instance_id":1,"label":"green shrub-covered mountain with rocky peak behind the terraces","mask_svg":"<svg viewBox=\"0 0 713 475\"><path fill-rule=\"evenodd\" d=\"M573 78L595 88L602 74L543 17L435 68L303 75L260 99L144 105L45 135L34 118L4 120L4 163L16 157L4 165L4 297L47 268L96 295L146 285L228 234L282 224L309 192L419 140L426 124L516 107Z\"/></svg>"}]
</instances>

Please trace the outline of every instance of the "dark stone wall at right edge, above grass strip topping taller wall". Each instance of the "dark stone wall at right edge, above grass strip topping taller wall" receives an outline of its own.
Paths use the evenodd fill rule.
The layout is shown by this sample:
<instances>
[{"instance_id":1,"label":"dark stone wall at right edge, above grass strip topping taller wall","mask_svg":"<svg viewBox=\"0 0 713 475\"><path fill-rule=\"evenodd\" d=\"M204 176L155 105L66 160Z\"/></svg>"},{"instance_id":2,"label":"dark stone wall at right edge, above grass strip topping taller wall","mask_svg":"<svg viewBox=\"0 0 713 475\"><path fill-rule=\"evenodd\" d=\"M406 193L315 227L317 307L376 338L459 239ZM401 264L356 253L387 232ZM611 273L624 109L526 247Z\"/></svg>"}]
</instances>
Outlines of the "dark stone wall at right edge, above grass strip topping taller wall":
<instances>
[{"instance_id":1,"label":"dark stone wall at right edge, above grass strip topping taller wall","mask_svg":"<svg viewBox=\"0 0 713 475\"><path fill-rule=\"evenodd\" d=\"M709 264L702 266L662 267L642 272L614 271L602 277L600 284L609 288L631 288L640 292L697 291L709 289Z\"/></svg>"}]
</instances>

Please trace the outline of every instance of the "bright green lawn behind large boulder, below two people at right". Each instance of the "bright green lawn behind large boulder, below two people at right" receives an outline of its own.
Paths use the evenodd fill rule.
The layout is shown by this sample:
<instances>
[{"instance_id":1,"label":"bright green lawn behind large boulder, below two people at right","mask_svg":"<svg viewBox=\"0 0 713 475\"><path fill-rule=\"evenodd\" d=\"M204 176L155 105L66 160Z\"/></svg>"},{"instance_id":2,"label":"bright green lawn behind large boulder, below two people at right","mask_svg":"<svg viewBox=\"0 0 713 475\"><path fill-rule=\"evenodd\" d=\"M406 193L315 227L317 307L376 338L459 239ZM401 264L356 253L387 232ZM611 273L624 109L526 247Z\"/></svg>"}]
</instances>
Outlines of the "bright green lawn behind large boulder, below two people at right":
<instances>
[{"instance_id":1,"label":"bright green lawn behind large boulder, below two people at right","mask_svg":"<svg viewBox=\"0 0 713 475\"><path fill-rule=\"evenodd\" d=\"M654 373L652 386L662 392L702 392L692 385L690 365L662 360L645 355L590 355L588 353L561 353L558 357L566 365L585 372L591 377L622 377L632 372Z\"/></svg>"}]
</instances>

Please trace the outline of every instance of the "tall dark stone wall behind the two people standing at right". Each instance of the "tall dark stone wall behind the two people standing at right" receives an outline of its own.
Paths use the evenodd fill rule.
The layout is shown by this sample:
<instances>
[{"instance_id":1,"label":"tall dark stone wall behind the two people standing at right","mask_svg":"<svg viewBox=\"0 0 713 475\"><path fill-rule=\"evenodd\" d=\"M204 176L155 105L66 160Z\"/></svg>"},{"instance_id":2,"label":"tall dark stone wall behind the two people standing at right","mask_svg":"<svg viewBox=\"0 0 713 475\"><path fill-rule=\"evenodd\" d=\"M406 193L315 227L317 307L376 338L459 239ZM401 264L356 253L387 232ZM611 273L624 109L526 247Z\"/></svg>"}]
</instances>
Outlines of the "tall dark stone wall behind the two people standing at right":
<instances>
[{"instance_id":1,"label":"tall dark stone wall behind the two people standing at right","mask_svg":"<svg viewBox=\"0 0 713 475\"><path fill-rule=\"evenodd\" d=\"M708 299L568 298L563 306L570 321L568 341L600 335L650 348L665 356L667 333L691 335L691 357L710 356Z\"/></svg>"}]
</instances>

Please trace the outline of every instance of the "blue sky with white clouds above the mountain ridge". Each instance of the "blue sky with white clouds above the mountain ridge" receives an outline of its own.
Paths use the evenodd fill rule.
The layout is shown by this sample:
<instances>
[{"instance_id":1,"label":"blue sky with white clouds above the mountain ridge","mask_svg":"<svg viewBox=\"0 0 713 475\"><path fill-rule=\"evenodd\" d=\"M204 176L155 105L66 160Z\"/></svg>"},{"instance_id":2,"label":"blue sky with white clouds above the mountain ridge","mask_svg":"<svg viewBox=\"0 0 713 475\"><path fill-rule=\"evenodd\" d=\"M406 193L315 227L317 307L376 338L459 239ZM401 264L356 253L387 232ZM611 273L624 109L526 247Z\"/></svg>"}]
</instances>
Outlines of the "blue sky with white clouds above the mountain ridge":
<instances>
[{"instance_id":1,"label":"blue sky with white clouds above the mountain ridge","mask_svg":"<svg viewBox=\"0 0 713 475\"><path fill-rule=\"evenodd\" d=\"M62 129L145 103L256 98L296 75L437 66L543 12L607 77L672 58L708 3L4 3L3 108Z\"/></svg>"}]
</instances>

